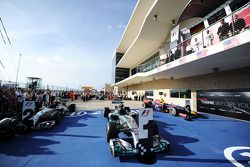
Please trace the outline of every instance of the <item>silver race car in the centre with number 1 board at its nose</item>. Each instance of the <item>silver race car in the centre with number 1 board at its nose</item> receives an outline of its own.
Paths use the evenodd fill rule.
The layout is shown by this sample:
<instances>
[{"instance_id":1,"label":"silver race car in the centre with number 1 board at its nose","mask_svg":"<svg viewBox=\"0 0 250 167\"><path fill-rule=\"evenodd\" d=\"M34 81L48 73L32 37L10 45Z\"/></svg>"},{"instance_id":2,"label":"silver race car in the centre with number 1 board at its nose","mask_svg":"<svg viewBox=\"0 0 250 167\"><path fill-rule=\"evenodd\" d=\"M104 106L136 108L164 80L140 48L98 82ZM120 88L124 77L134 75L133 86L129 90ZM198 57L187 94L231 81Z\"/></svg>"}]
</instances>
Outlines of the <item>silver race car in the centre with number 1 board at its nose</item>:
<instances>
[{"instance_id":1,"label":"silver race car in the centre with number 1 board at its nose","mask_svg":"<svg viewBox=\"0 0 250 167\"><path fill-rule=\"evenodd\" d=\"M108 111L107 108L105 110ZM108 114L106 134L112 156L143 156L168 151L170 144L160 136L157 124L153 120L153 110L142 109L136 117L138 121L131 113L124 114L116 110ZM133 142L119 138L121 132L132 137Z\"/></svg>"}]
</instances>

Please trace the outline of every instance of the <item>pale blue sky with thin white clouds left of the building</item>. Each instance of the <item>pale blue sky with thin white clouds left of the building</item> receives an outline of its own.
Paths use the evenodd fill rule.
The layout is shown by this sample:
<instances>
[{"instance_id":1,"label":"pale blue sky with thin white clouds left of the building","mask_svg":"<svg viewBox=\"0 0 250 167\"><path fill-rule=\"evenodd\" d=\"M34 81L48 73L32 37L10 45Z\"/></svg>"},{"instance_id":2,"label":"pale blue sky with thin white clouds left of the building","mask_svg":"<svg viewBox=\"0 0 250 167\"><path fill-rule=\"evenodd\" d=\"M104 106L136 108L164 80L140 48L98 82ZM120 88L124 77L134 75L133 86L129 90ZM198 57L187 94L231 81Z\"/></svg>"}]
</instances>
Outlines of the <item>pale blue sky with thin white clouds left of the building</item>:
<instances>
[{"instance_id":1,"label":"pale blue sky with thin white clouds left of the building","mask_svg":"<svg viewBox=\"0 0 250 167\"><path fill-rule=\"evenodd\" d=\"M0 80L100 90L136 0L0 0ZM6 44L5 44L5 43ZM20 56L21 55L21 56Z\"/></svg>"}]
</instances>

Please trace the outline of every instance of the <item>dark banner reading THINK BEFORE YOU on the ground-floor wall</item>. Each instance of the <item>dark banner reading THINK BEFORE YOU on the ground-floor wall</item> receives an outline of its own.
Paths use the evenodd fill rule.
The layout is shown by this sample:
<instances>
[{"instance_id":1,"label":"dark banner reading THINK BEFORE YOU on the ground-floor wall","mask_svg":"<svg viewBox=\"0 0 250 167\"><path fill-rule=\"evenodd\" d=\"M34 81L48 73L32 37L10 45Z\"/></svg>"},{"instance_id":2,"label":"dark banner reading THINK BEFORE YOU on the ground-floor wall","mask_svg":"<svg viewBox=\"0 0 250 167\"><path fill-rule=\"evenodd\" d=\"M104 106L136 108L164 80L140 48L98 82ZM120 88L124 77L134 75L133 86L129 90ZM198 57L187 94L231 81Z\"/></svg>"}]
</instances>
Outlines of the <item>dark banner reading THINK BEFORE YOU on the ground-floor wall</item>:
<instances>
[{"instance_id":1,"label":"dark banner reading THINK BEFORE YOU on the ground-floor wall","mask_svg":"<svg viewBox=\"0 0 250 167\"><path fill-rule=\"evenodd\" d=\"M250 89L199 90L197 110L250 121Z\"/></svg>"}]
</instances>

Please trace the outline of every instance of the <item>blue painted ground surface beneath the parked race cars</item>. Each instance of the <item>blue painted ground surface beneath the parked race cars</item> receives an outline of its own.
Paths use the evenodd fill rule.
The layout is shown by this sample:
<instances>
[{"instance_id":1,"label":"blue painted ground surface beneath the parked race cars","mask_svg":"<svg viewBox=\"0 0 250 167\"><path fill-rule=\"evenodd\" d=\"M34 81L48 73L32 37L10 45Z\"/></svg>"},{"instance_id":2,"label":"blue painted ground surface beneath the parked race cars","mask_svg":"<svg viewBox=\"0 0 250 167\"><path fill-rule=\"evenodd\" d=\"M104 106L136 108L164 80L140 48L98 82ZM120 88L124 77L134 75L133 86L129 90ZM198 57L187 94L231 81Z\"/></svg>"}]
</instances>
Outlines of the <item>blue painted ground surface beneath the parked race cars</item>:
<instances>
[{"instance_id":1,"label":"blue painted ground surface beneath the parked race cars","mask_svg":"<svg viewBox=\"0 0 250 167\"><path fill-rule=\"evenodd\" d=\"M135 157L113 158L106 142L106 119L99 111L86 113L66 117L49 131L15 136L0 143L0 167L230 167L234 165L225 158L224 150L250 147L250 122L208 114L185 121L155 112L154 119L161 135L170 141L171 150L157 154L155 162L146 165ZM232 156L250 166L249 154L250 149L245 148L234 151Z\"/></svg>"}]
</instances>

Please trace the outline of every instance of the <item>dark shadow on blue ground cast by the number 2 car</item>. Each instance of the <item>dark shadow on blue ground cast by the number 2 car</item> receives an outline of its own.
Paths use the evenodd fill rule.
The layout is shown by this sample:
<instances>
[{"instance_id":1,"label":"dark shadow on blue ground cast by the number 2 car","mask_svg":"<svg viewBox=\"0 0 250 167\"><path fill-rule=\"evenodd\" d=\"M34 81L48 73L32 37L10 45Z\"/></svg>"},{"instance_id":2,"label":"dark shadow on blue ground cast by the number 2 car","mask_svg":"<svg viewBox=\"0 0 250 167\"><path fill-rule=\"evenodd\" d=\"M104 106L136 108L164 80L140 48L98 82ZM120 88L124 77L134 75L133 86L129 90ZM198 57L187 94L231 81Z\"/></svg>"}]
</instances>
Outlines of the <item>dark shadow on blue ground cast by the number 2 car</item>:
<instances>
[{"instance_id":1,"label":"dark shadow on blue ground cast by the number 2 car","mask_svg":"<svg viewBox=\"0 0 250 167\"><path fill-rule=\"evenodd\" d=\"M42 139L36 137L48 137L48 136L68 136L68 137L84 137L84 138L103 138L103 136L90 136L90 135L74 135L63 134L68 128L73 127L86 127L87 119L97 118L90 114L85 114L78 117L65 117L62 119L59 125L49 130L32 131L29 134L16 136L8 142L0 143L0 154L12 155L12 156L27 156L27 155L50 155L56 154L49 150L49 145L60 144L61 142Z\"/></svg>"}]
</instances>

